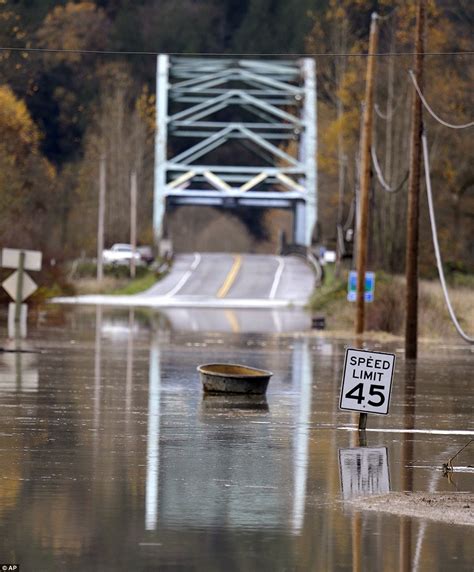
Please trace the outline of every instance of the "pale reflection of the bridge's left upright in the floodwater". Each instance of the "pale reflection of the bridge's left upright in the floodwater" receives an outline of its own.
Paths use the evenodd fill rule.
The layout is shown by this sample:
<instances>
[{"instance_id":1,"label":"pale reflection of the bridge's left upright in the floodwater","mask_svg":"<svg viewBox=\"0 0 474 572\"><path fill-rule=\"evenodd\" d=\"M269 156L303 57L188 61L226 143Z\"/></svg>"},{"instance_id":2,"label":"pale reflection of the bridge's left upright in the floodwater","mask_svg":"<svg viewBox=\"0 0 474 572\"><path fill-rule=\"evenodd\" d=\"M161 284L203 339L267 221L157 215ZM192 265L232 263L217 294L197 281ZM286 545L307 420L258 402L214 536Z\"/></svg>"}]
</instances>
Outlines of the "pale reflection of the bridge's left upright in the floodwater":
<instances>
[{"instance_id":1,"label":"pale reflection of the bridge's left upright in the floodwater","mask_svg":"<svg viewBox=\"0 0 474 572\"><path fill-rule=\"evenodd\" d=\"M160 348L154 337L150 347L148 381L148 436L145 498L145 528L155 530L158 519L159 441L160 441Z\"/></svg>"}]
</instances>

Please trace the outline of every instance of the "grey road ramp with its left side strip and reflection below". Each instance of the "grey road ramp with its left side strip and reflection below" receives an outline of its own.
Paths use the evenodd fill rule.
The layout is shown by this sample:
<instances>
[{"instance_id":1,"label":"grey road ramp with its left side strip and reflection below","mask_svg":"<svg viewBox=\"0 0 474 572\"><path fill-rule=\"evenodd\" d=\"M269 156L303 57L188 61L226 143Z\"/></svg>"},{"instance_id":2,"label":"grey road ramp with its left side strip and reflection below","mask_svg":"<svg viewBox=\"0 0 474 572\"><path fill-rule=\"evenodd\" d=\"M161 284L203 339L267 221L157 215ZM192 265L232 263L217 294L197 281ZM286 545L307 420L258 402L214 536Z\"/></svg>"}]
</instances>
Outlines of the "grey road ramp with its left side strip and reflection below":
<instances>
[{"instance_id":1,"label":"grey road ramp with its left side strip and reflection below","mask_svg":"<svg viewBox=\"0 0 474 572\"><path fill-rule=\"evenodd\" d=\"M295 256L196 252L177 255L169 274L140 294L71 296L53 302L161 308L172 322L193 330L212 323L216 331L288 331L309 327L308 316L294 309L306 305L313 288L312 269ZM212 314L207 311L212 308L232 312ZM272 312L259 313L264 309Z\"/></svg>"}]
</instances>

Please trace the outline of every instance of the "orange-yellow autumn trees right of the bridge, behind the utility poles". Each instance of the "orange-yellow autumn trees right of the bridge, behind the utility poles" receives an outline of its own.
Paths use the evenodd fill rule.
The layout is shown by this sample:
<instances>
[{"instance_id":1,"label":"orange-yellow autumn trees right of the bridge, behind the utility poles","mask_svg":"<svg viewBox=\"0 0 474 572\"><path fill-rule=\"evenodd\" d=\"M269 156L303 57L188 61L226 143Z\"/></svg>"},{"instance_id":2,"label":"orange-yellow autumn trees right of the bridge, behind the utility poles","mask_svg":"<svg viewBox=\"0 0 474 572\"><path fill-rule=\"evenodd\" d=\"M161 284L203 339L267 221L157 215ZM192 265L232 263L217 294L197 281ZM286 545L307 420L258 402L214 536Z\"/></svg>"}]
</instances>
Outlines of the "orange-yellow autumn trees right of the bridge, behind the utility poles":
<instances>
[{"instance_id":1,"label":"orange-yellow autumn trees right of the bridge, behind the utility poles","mask_svg":"<svg viewBox=\"0 0 474 572\"><path fill-rule=\"evenodd\" d=\"M444 6L446 5L446 6ZM451 11L448 10L448 5ZM444 9L446 8L446 9ZM307 38L311 52L347 53L347 57L322 57L317 59L319 85L319 133L320 133L320 212L325 239L336 242L336 232L354 212L351 203L357 194L358 144L360 116L364 98L365 60L351 57L367 50L370 12L376 10L382 16L379 22L381 52L409 54L413 49L415 4L405 2L374 2L372 5L359 0L330 1L323 15L315 18ZM469 12L467 5L464 10ZM472 12L472 10L471 10ZM427 51L450 52L467 50L468 34L461 22L456 21L450 2L428 2ZM464 20L464 19L463 19ZM469 21L469 19L467 19ZM456 31L455 31L456 30ZM381 183L373 166L370 199L370 263L388 271L401 271L404 266L406 175L408 168L408 133L410 128L410 101L413 86L408 69L412 57L388 56L377 58L377 83L375 95L375 122L373 154L384 183ZM456 116L462 122L469 116L469 82L472 82L472 66L463 58L447 56L425 58L425 88L438 109ZM430 87L431 86L431 87ZM445 251L451 256L468 257L467 237L472 233L465 209L456 209L453 200L462 196L467 206L472 185L472 169L467 165L465 152L466 134L453 133L436 125L425 112L425 124L432 132L431 147L433 175L440 183L437 198L442 221L440 234L445 240ZM442 139L441 139L442 138ZM449 143L448 143L449 141ZM464 141L464 143L463 143ZM385 187L385 188L384 188ZM387 187L391 189L389 192ZM457 189L457 191L455 190ZM456 195L459 192L460 195ZM451 198L450 198L451 194ZM451 203L451 204L450 204ZM430 243L429 221L426 209L422 209L422 240ZM462 233L453 232L449 221L461 220ZM349 217L346 219L346 217ZM460 217L460 218L459 218ZM445 227L446 223L446 227ZM354 225L352 221L351 226ZM445 227L445 228L443 228ZM448 227L450 230L448 230ZM469 231L468 229L471 228ZM451 246L447 236L451 233ZM453 249L453 239L455 248ZM433 268L430 249L422 253L422 268Z\"/></svg>"}]
</instances>

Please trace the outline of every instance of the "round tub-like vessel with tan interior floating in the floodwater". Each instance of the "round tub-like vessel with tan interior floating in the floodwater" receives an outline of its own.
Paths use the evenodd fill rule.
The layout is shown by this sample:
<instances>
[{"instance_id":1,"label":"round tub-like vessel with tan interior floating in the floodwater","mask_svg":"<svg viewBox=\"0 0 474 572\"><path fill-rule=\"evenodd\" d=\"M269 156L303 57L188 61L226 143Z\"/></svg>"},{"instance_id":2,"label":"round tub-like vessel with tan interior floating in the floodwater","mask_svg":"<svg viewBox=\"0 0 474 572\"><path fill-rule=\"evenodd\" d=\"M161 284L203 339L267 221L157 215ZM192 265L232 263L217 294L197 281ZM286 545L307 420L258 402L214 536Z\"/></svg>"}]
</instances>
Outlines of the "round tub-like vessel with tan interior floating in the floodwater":
<instances>
[{"instance_id":1,"label":"round tub-like vessel with tan interior floating in the floodwater","mask_svg":"<svg viewBox=\"0 0 474 572\"><path fill-rule=\"evenodd\" d=\"M197 368L205 393L264 395L270 371L233 363L209 363Z\"/></svg>"}]
</instances>

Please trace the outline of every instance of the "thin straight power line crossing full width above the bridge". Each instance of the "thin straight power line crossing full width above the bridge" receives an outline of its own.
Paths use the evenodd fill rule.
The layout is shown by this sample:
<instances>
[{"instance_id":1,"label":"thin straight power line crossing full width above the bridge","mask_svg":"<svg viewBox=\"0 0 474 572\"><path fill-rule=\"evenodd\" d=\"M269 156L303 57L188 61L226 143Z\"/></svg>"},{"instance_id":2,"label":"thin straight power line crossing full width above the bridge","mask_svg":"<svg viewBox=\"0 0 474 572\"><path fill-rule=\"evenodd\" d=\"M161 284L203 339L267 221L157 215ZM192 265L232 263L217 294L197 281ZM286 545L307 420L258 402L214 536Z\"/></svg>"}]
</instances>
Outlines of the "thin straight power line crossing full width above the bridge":
<instances>
[{"instance_id":1,"label":"thin straight power line crossing full width above the bridge","mask_svg":"<svg viewBox=\"0 0 474 572\"><path fill-rule=\"evenodd\" d=\"M183 57L215 57L215 58L277 58L277 57L347 57L347 58L367 58L367 57L391 57L391 56L416 56L416 52L377 52L374 54L367 53L351 53L351 52L313 52L313 53L223 53L223 52L147 52L147 51L129 51L129 50L80 50L80 49L64 49L64 48L27 48L27 47L1 47L0 52L28 52L28 53L53 53L53 54L89 54L103 56L158 56L160 54L168 56ZM424 52L424 56L472 56L474 50L457 51L457 52Z\"/></svg>"}]
</instances>

